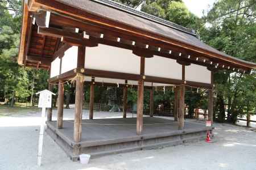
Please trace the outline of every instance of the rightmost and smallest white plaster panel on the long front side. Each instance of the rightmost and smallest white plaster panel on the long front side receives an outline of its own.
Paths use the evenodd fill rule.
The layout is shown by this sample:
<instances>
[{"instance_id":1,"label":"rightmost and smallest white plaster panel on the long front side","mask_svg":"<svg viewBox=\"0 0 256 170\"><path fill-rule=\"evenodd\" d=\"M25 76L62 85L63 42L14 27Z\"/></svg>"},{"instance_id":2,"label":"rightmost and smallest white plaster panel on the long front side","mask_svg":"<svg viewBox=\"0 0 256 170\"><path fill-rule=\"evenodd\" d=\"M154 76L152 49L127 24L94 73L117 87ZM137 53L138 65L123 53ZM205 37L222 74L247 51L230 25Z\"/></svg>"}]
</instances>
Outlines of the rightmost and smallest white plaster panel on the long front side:
<instances>
[{"instance_id":1,"label":"rightmost and smallest white plaster panel on the long front side","mask_svg":"<svg viewBox=\"0 0 256 170\"><path fill-rule=\"evenodd\" d=\"M210 84L210 76L211 73L207 67L195 64L185 66L185 80Z\"/></svg>"}]
</instances>

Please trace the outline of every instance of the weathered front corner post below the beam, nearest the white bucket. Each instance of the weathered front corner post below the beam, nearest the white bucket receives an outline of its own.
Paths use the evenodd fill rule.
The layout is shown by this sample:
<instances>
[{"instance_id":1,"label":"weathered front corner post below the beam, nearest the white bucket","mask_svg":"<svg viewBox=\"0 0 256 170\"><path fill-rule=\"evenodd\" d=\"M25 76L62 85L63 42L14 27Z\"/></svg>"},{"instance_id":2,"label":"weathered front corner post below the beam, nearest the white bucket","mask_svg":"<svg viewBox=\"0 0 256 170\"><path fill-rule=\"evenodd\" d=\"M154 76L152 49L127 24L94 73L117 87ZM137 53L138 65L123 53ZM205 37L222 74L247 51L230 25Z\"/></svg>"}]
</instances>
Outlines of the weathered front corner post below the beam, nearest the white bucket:
<instances>
[{"instance_id":1,"label":"weathered front corner post below the beam, nearest the white bucket","mask_svg":"<svg viewBox=\"0 0 256 170\"><path fill-rule=\"evenodd\" d=\"M82 97L84 94L84 76L76 75L76 99L75 99L75 120L74 120L74 142L81 141L82 135Z\"/></svg>"}]
</instances>

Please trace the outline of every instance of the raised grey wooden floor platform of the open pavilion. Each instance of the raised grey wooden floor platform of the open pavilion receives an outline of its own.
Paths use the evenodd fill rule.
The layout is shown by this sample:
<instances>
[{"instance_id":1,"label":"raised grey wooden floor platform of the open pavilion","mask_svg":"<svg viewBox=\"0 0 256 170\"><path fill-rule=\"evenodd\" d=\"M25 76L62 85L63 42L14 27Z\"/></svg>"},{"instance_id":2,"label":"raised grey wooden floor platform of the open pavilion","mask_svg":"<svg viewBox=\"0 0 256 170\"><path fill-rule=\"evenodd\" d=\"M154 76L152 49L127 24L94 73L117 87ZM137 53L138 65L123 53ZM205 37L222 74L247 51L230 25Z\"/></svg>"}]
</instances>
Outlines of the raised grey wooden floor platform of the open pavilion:
<instances>
[{"instance_id":1,"label":"raised grey wooden floor platform of the open pavilion","mask_svg":"<svg viewBox=\"0 0 256 170\"><path fill-rule=\"evenodd\" d=\"M177 122L156 117L143 117L142 135L136 134L136 118L105 118L82 120L81 142L73 142L73 121L64 121L63 129L56 128L56 121L47 122L47 133L72 160L74 148L80 154L92 157L121 152L175 146L205 139L204 124L185 122L184 130L177 130Z\"/></svg>"}]
</instances>

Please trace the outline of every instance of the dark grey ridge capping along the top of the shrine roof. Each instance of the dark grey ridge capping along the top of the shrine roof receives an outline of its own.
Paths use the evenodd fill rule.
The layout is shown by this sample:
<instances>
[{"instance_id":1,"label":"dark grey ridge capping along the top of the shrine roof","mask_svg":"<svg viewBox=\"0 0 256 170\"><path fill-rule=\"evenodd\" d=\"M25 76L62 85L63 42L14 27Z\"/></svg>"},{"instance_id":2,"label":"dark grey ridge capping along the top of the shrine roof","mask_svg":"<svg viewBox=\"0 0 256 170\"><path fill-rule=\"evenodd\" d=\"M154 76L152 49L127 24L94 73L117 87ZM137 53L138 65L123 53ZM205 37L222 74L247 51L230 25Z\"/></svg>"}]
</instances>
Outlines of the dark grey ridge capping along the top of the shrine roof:
<instances>
[{"instance_id":1,"label":"dark grey ridge capping along the top of the shrine roof","mask_svg":"<svg viewBox=\"0 0 256 170\"><path fill-rule=\"evenodd\" d=\"M132 7L123 5L123 4L118 3L118 2L114 2L112 0L90 0L90 1L101 3L103 5L115 8L117 10L122 10L122 11L125 11L125 12L129 13L129 14L137 15L141 18L151 20L152 22L162 24L162 25L165 25L167 27L171 27L173 29L176 29L177 31L185 32L185 33L188 33L190 35L196 36L196 33L192 29L183 27L179 24L172 23L168 20L164 20L164 19L159 18L157 16L147 14L146 12L135 10Z\"/></svg>"}]
</instances>

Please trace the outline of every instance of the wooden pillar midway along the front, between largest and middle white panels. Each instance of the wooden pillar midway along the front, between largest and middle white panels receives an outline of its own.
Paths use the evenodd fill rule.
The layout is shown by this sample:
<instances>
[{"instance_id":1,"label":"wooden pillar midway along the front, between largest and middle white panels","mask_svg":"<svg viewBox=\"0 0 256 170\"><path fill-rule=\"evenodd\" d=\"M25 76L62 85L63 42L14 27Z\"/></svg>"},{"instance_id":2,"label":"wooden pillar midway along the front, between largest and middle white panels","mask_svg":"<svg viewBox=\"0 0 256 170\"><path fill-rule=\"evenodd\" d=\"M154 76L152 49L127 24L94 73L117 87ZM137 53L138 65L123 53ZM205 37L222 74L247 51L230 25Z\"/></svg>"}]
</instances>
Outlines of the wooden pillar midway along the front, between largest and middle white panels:
<instances>
[{"instance_id":1,"label":"wooden pillar midway along the front, between largest and middle white panels","mask_svg":"<svg viewBox=\"0 0 256 170\"><path fill-rule=\"evenodd\" d=\"M142 128L143 128L144 66L145 66L145 58L141 57L141 76L142 76L142 78L138 81L137 135L141 135Z\"/></svg>"}]
</instances>

